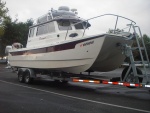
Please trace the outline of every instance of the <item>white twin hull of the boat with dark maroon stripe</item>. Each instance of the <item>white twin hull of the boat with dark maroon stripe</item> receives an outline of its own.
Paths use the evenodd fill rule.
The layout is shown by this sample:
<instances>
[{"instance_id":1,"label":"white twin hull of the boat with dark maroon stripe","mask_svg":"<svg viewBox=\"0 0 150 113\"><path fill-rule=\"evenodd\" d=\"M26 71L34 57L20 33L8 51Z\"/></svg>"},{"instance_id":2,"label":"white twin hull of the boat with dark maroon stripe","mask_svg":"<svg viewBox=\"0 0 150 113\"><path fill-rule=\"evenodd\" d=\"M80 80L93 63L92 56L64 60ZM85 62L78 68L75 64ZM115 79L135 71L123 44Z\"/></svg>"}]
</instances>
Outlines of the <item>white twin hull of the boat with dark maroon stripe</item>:
<instances>
[{"instance_id":1,"label":"white twin hull of the boat with dark maroon stripe","mask_svg":"<svg viewBox=\"0 0 150 113\"><path fill-rule=\"evenodd\" d=\"M130 42L125 41L122 37L108 34L95 37L64 42L60 44L61 46L43 47L46 49L26 48L11 51L9 62L14 67L59 70L70 73L80 73L88 69L93 71L116 69L125 59L116 43Z\"/></svg>"}]
</instances>

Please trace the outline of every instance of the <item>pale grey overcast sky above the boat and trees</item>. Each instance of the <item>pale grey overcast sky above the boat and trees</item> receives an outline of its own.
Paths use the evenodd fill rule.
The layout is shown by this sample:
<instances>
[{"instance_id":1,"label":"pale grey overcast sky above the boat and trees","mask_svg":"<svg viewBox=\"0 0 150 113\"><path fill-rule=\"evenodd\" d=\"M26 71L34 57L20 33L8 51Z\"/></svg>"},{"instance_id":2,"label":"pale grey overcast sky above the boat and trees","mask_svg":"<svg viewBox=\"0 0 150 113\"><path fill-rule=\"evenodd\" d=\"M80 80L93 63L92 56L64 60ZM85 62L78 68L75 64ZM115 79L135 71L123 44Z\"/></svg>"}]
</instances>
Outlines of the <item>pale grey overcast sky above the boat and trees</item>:
<instances>
[{"instance_id":1,"label":"pale grey overcast sky above the boat and trees","mask_svg":"<svg viewBox=\"0 0 150 113\"><path fill-rule=\"evenodd\" d=\"M69 6L78 10L78 16L88 19L113 13L134 20L142 33L150 36L150 0L2 0L6 1L9 15L19 21L36 19L51 8ZM111 21L111 20L110 20Z\"/></svg>"}]
</instances>

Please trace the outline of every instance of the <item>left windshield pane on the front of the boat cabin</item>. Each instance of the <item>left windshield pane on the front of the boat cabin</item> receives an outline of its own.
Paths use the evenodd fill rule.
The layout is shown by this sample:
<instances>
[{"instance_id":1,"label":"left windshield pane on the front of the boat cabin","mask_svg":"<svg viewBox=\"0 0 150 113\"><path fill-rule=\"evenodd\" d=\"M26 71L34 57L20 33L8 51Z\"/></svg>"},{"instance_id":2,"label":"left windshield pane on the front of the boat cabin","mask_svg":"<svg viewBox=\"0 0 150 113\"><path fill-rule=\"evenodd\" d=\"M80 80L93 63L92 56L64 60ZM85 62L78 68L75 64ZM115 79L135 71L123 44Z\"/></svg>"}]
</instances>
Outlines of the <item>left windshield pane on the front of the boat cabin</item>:
<instances>
[{"instance_id":1,"label":"left windshield pane on the front of the boat cabin","mask_svg":"<svg viewBox=\"0 0 150 113\"><path fill-rule=\"evenodd\" d=\"M68 20L57 21L59 30L72 30L70 22Z\"/></svg>"}]
</instances>

